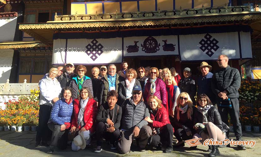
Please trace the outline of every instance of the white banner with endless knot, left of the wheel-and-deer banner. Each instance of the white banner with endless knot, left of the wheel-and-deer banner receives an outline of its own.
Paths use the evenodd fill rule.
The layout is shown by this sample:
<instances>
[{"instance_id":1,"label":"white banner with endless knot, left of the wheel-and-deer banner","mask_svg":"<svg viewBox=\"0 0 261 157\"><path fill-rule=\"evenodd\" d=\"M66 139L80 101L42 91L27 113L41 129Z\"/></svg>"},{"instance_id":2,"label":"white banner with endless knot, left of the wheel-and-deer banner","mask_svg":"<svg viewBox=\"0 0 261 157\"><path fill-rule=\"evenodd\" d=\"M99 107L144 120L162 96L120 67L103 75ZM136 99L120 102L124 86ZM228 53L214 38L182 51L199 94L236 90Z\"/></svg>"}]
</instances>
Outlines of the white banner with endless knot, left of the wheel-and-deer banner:
<instances>
[{"instance_id":1,"label":"white banner with endless knot, left of the wheel-and-deer banner","mask_svg":"<svg viewBox=\"0 0 261 157\"><path fill-rule=\"evenodd\" d=\"M69 62L95 65L121 61L122 38L56 39L53 41L53 65Z\"/></svg>"}]
</instances>

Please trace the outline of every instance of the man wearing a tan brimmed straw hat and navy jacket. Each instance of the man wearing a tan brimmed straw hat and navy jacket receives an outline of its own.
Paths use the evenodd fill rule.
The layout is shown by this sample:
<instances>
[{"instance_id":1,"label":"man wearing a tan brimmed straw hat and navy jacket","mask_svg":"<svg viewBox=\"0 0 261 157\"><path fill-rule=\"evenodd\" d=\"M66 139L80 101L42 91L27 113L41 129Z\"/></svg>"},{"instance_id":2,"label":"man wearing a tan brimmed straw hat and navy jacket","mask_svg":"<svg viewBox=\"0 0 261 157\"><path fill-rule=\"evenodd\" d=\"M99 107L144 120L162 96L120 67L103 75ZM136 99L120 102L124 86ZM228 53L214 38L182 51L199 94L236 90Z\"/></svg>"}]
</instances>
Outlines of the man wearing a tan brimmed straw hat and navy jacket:
<instances>
[{"instance_id":1,"label":"man wearing a tan brimmed straw hat and navy jacket","mask_svg":"<svg viewBox=\"0 0 261 157\"><path fill-rule=\"evenodd\" d=\"M213 105L216 106L215 95L211 89L211 80L213 73L209 72L212 70L212 66L208 65L207 62L201 62L200 66L197 67L197 69L202 73L202 75L200 75L200 77L197 79L197 96L201 94L208 95Z\"/></svg>"}]
</instances>

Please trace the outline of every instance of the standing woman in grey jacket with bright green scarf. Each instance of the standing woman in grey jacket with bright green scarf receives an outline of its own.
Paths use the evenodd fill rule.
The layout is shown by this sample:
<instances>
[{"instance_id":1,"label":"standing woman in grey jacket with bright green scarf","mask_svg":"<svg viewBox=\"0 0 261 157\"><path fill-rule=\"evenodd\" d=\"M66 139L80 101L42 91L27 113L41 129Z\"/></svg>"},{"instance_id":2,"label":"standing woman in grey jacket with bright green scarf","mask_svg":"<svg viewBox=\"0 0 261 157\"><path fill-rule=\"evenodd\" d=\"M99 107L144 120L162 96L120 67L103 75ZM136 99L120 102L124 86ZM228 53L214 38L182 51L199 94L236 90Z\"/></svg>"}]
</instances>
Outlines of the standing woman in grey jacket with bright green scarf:
<instances>
[{"instance_id":1,"label":"standing woman in grey jacket with bright green scarf","mask_svg":"<svg viewBox=\"0 0 261 157\"><path fill-rule=\"evenodd\" d=\"M69 85L72 88L72 98L76 99L80 95L80 90L82 87L87 87L93 95L92 80L88 76L85 76L85 73L87 72L86 67L79 65L76 71L77 76L72 78L72 81Z\"/></svg>"}]
</instances>

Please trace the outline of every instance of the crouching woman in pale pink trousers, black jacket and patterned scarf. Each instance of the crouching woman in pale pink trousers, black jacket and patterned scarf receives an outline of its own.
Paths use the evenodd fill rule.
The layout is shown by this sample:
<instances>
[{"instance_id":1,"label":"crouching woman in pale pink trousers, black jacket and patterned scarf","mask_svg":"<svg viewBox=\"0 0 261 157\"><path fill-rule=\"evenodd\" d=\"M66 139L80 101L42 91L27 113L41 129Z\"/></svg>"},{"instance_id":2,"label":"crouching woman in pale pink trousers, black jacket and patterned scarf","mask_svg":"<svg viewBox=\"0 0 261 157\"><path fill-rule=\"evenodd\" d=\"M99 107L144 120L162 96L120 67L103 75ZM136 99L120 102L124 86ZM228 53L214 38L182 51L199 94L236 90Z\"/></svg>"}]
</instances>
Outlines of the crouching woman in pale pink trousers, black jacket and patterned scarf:
<instances>
[{"instance_id":1,"label":"crouching woman in pale pink trousers, black jacket and patterned scarf","mask_svg":"<svg viewBox=\"0 0 261 157\"><path fill-rule=\"evenodd\" d=\"M196 129L196 134L193 138L202 138L202 141L212 138L216 141L225 140L225 133L229 127L222 122L219 111L212 105L208 96L201 94L197 97L197 111L193 115L193 124ZM219 156L217 145L208 145L208 156Z\"/></svg>"}]
</instances>

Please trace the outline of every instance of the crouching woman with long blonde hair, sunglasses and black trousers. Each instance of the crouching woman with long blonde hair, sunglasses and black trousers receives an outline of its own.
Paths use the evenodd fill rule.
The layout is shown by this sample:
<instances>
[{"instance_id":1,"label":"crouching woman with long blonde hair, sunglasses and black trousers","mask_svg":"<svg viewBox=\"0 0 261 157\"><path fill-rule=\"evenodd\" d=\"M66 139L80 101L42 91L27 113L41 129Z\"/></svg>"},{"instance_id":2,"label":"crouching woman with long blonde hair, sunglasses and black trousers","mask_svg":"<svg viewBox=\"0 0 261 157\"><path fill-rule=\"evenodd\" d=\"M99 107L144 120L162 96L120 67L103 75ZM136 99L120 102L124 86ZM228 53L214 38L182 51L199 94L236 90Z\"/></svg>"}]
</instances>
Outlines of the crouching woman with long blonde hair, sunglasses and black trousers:
<instances>
[{"instance_id":1,"label":"crouching woman with long blonde hair, sunglasses and black trousers","mask_svg":"<svg viewBox=\"0 0 261 157\"><path fill-rule=\"evenodd\" d=\"M174 111L174 135L178 140L174 147L183 147L185 146L185 140L192 139L192 132L194 132L192 117L192 100L188 93L182 92L178 96L177 106Z\"/></svg>"}]
</instances>

